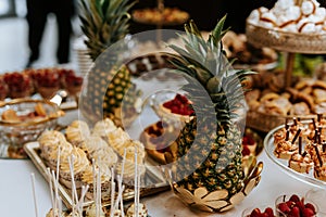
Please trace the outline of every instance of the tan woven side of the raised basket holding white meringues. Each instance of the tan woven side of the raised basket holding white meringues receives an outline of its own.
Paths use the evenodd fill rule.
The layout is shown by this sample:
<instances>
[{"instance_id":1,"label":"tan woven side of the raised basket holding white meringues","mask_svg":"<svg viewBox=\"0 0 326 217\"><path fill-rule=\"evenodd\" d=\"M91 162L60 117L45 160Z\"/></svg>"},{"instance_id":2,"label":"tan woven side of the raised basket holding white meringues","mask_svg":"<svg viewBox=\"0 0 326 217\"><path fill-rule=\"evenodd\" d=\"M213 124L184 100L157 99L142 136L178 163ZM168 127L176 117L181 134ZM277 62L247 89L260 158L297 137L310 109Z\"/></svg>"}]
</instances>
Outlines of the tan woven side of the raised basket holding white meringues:
<instances>
[{"instance_id":1,"label":"tan woven side of the raised basket holding white meringues","mask_svg":"<svg viewBox=\"0 0 326 217\"><path fill-rule=\"evenodd\" d=\"M297 34L265 28L247 22L248 42L293 53L326 53L326 34Z\"/></svg>"}]
</instances>

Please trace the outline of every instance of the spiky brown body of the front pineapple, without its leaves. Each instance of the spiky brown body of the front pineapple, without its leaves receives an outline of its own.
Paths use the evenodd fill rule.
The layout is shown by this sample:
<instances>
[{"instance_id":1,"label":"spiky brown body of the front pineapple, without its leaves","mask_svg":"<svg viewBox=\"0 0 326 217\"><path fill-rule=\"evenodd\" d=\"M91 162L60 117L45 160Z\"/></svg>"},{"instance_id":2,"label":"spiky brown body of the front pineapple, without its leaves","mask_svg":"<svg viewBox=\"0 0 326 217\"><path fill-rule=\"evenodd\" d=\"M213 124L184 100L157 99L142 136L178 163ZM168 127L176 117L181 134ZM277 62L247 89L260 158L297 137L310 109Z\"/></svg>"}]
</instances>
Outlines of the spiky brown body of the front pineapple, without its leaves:
<instances>
[{"instance_id":1,"label":"spiky brown body of the front pineapple, without its leaves","mask_svg":"<svg viewBox=\"0 0 326 217\"><path fill-rule=\"evenodd\" d=\"M243 187L241 132L236 126L216 129L215 124L210 124L212 122L203 123L199 132L195 117L175 141L178 146L177 184L192 192L200 187L210 192L226 189L230 197Z\"/></svg>"}]
</instances>

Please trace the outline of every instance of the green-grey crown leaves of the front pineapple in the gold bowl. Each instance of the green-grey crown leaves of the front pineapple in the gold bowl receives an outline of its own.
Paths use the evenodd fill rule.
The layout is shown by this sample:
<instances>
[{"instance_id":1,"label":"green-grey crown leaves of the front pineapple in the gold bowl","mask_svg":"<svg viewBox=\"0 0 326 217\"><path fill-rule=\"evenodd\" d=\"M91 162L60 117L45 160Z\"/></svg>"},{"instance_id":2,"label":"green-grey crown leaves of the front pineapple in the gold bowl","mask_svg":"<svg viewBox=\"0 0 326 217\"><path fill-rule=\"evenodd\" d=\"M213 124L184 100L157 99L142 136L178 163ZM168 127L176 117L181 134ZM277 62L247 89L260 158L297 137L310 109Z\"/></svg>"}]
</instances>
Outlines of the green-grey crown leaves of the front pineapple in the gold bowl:
<instances>
[{"instance_id":1,"label":"green-grey crown leaves of the front pineapple in the gold bowl","mask_svg":"<svg viewBox=\"0 0 326 217\"><path fill-rule=\"evenodd\" d=\"M201 107L196 111L204 111L202 105L214 106L218 122L230 125L234 118L238 117L237 111L243 107L241 102L244 100L246 77L253 74L248 69L233 69L234 61L228 62L224 55L222 38L227 33L224 30L224 16L212 30L208 40L204 40L193 21L185 25L186 36L181 37L184 48L171 44L177 54L172 56L172 64L178 72L186 75L188 85L183 89L188 92L193 104ZM188 78L187 78L188 77ZM210 101L193 85L193 78L210 95Z\"/></svg>"}]
</instances>

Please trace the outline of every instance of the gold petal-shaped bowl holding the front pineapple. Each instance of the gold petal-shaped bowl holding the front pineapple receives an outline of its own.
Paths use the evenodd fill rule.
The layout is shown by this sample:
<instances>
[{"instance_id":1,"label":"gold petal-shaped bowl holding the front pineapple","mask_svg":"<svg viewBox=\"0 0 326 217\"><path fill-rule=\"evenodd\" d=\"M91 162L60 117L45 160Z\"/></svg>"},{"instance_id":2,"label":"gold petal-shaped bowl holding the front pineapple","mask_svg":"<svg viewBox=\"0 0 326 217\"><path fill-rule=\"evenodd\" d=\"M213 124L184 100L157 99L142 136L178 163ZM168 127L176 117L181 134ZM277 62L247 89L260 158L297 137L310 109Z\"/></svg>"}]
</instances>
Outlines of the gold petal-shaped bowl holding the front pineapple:
<instances>
[{"instance_id":1,"label":"gold petal-shaped bowl holding the front pineapple","mask_svg":"<svg viewBox=\"0 0 326 217\"><path fill-rule=\"evenodd\" d=\"M263 163L258 163L255 156L243 158L242 168L244 175L243 184L241 190L234 195L228 195L228 191L225 189L210 192L204 187L199 187L190 192L173 181L172 170L166 169L164 173L173 192L191 208L203 212L222 213L241 203L261 180Z\"/></svg>"}]
</instances>

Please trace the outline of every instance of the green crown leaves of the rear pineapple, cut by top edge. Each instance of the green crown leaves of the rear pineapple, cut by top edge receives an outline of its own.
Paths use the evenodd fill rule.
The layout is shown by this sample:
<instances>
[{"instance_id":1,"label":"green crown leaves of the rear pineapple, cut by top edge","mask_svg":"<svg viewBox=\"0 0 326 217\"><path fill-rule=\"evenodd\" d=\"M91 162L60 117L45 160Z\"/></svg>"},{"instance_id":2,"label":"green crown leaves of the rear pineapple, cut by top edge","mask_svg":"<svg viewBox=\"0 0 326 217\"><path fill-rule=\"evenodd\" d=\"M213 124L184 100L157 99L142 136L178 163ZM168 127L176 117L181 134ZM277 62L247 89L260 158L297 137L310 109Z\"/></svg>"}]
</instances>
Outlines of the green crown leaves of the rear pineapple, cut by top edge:
<instances>
[{"instance_id":1,"label":"green crown leaves of the rear pineapple, cut by top edge","mask_svg":"<svg viewBox=\"0 0 326 217\"><path fill-rule=\"evenodd\" d=\"M129 0L80 0L82 30L93 61L128 34L128 11L135 3Z\"/></svg>"}]
</instances>

